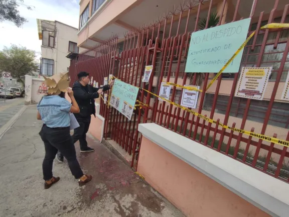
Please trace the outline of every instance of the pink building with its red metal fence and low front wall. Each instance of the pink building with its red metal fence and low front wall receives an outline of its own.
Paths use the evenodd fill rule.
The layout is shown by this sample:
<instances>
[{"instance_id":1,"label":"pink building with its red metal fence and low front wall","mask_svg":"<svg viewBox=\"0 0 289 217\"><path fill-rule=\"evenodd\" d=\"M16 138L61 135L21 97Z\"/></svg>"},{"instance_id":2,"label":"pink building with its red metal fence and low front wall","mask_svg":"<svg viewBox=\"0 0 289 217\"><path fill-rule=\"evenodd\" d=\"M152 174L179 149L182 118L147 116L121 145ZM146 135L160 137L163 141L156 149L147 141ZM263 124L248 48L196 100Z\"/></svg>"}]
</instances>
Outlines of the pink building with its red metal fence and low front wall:
<instances>
[{"instance_id":1,"label":"pink building with its red metal fence and low front wall","mask_svg":"<svg viewBox=\"0 0 289 217\"><path fill-rule=\"evenodd\" d=\"M289 141L288 101L281 99L289 70L286 0L81 0L72 80L80 70L103 84L113 74L159 94L162 81L206 89L215 73L185 73L192 32L251 18L240 69L272 67L263 100L235 97L239 73L223 73L199 93L194 111L229 127ZM219 19L213 19L214 15ZM233 53L232 53L233 55ZM141 78L153 65L150 82ZM183 89L172 87L180 103ZM287 216L286 146L226 130L141 89L131 121L102 100L90 132L106 141L188 216Z\"/></svg>"}]
</instances>

